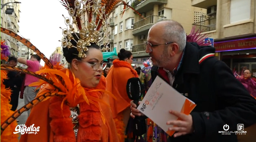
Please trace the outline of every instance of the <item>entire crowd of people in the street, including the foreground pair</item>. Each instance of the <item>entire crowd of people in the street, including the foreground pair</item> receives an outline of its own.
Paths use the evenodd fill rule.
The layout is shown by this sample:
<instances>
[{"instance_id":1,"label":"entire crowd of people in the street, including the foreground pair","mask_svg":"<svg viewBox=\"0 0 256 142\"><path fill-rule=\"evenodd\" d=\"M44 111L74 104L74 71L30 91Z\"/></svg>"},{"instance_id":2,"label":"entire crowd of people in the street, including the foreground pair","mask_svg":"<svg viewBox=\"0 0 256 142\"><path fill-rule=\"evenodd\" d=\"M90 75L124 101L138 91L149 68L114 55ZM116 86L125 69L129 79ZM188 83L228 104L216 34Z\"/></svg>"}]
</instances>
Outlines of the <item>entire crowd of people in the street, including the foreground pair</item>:
<instances>
[{"instance_id":1,"label":"entire crowd of people in the street, including the foreground pair","mask_svg":"<svg viewBox=\"0 0 256 142\"><path fill-rule=\"evenodd\" d=\"M145 46L152 62L145 62L144 68L134 69L132 52L125 49L120 49L118 59L110 66L102 56L108 47L100 45L108 45L109 36L99 38L102 34L99 31L103 28L104 34L110 33L105 19L116 3L105 5L92 0L90 5L82 1L62 4L68 7L70 17L76 19L73 24L78 27L75 32L71 20L65 18L69 28L62 29L64 39L60 42L69 68L52 62L28 40L1 28L1 32L36 53L30 60L15 57L7 60L1 42L1 60L8 61L8 65L1 66L4 142L18 141L18 134L13 133L17 127L13 124L24 112L28 113L28 119L20 126L20 132L26 131L21 132L20 142L256 141L256 99L252 96L254 90L245 87L255 83L250 70L243 72L242 79L235 77L224 62L214 57L215 48L196 38L195 33L186 35L182 25L174 20L161 20L150 28ZM80 12L88 13L86 25L81 25ZM41 60L44 66L40 65ZM15 68L17 62L28 68ZM175 131L172 136L142 114L126 93L128 80L140 78L144 85L143 99L157 76L196 104L189 115L172 108L166 112L178 118L166 122L168 130ZM19 95L24 98L25 106L17 110ZM135 117L146 122L146 132L141 136L130 128ZM225 125L229 131L236 131L237 124L244 124L246 135L218 133Z\"/></svg>"}]
</instances>

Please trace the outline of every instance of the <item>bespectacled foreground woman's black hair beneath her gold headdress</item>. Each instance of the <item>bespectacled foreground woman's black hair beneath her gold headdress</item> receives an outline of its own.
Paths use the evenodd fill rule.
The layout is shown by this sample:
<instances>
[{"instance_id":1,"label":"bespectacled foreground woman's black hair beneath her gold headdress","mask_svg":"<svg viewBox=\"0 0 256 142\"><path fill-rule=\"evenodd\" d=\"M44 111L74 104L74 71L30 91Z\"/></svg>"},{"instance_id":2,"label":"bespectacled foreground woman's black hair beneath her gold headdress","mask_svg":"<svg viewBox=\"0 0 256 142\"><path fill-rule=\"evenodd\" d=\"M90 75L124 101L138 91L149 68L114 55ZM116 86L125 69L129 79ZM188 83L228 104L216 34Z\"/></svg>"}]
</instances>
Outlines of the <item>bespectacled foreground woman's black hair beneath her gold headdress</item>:
<instances>
[{"instance_id":1,"label":"bespectacled foreground woman's black hair beneath her gold headdress","mask_svg":"<svg viewBox=\"0 0 256 142\"><path fill-rule=\"evenodd\" d=\"M76 37L76 35L78 37ZM80 34L79 33L72 33L72 36L74 37L74 40L78 41L80 39ZM67 38L67 37L66 37ZM76 42L74 40L71 40L70 42L72 43L73 46L76 46ZM87 48L88 49L91 49L91 48L95 48L95 49L98 49L100 50L100 47L95 44L95 43L91 43L91 46L88 46ZM81 58L78 57L78 50L77 48L67 48L67 47L64 47L63 48L63 56L66 58L66 61L68 63L71 63L73 59L77 59L77 60L81 60ZM85 53L86 54L86 53Z\"/></svg>"}]
</instances>

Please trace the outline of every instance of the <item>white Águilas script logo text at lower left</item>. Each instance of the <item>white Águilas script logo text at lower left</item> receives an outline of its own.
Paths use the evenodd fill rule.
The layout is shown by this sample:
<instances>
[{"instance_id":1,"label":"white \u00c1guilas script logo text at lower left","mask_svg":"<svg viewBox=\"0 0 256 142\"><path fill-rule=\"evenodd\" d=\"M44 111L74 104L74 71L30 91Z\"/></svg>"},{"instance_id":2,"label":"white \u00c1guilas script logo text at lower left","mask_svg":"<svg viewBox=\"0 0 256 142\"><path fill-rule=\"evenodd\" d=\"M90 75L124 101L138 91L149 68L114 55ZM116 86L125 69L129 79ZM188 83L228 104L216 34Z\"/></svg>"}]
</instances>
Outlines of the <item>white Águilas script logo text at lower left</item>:
<instances>
[{"instance_id":1,"label":"white \u00c1guilas script logo text at lower left","mask_svg":"<svg viewBox=\"0 0 256 142\"><path fill-rule=\"evenodd\" d=\"M17 134L20 132L20 134L37 134L37 132L39 132L39 126L38 127L34 127L35 124L33 124L32 126L27 127L25 124L20 124L17 125L15 128L16 132L13 132L13 134Z\"/></svg>"}]
</instances>

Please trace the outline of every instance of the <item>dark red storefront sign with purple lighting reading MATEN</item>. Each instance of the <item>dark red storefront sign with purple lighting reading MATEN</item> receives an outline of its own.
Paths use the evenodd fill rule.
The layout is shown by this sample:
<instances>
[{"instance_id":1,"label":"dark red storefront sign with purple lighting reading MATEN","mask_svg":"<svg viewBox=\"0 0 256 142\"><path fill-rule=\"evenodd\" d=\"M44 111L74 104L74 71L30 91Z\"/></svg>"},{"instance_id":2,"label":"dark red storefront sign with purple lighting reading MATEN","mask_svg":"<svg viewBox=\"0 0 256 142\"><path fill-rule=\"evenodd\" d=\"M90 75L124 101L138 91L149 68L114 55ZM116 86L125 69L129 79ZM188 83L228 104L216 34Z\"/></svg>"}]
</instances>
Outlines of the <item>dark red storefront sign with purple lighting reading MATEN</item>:
<instances>
[{"instance_id":1,"label":"dark red storefront sign with purple lighting reading MATEN","mask_svg":"<svg viewBox=\"0 0 256 142\"><path fill-rule=\"evenodd\" d=\"M214 42L214 48L216 52L256 49L256 37L224 42Z\"/></svg>"}]
</instances>

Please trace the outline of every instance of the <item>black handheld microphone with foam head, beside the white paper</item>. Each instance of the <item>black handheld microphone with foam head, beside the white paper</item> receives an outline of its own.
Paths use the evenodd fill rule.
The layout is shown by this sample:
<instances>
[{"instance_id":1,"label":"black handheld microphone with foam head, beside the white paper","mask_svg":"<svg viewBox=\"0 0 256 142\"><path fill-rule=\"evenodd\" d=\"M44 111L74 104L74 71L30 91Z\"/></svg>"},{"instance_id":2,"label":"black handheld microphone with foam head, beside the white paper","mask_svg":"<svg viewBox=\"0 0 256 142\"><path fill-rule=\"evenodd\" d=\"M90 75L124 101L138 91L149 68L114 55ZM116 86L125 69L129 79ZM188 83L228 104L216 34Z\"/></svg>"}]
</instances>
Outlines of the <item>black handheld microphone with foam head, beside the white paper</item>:
<instances>
[{"instance_id":1,"label":"black handheld microphone with foam head, beside the white paper","mask_svg":"<svg viewBox=\"0 0 256 142\"><path fill-rule=\"evenodd\" d=\"M138 107L138 102L142 94L142 84L139 78L130 78L126 84L126 92L130 100L133 100L134 104ZM143 117L135 116L133 120L133 134L136 136L142 136L147 132L146 120Z\"/></svg>"}]
</instances>

